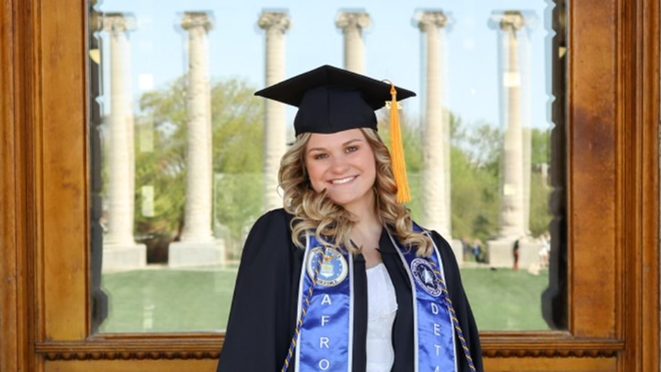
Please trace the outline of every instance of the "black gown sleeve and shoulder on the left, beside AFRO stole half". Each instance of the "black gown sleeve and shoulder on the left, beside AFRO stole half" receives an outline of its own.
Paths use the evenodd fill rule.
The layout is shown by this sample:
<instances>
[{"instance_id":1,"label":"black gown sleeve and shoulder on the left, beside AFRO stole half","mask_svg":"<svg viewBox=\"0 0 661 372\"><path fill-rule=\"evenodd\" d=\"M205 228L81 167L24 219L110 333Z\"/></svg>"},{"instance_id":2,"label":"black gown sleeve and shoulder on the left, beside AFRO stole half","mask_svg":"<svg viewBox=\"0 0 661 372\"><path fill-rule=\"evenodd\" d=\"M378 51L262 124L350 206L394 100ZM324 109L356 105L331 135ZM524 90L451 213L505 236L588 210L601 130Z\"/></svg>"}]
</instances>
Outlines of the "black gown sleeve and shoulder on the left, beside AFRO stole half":
<instances>
[{"instance_id":1,"label":"black gown sleeve and shoulder on the left, beside AFRO stole half","mask_svg":"<svg viewBox=\"0 0 661 372\"><path fill-rule=\"evenodd\" d=\"M291 240L292 216L282 209L259 217L245 242L218 372L280 371L295 306L292 283L302 250ZM300 251L300 252L297 252Z\"/></svg>"}]
</instances>

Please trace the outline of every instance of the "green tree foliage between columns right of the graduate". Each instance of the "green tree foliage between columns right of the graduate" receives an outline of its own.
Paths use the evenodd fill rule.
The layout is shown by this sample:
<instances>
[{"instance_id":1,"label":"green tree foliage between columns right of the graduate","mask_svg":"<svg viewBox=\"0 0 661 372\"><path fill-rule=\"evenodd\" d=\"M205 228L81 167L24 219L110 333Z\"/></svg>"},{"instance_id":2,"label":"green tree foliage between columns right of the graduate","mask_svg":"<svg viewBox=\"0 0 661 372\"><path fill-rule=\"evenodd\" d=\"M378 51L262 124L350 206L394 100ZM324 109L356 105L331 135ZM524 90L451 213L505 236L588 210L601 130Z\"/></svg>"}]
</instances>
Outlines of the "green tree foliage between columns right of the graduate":
<instances>
[{"instance_id":1,"label":"green tree foliage between columns right of the graduate","mask_svg":"<svg viewBox=\"0 0 661 372\"><path fill-rule=\"evenodd\" d=\"M450 113L451 224L455 238L494 238L499 230L500 174L503 133L487 122L472 126ZM387 120L383 120L387 122ZM409 171L412 200L407 206L414 219L422 212L421 168L422 129L402 121L402 138ZM380 129L382 136L387 138ZM385 134L383 133L385 132ZM530 190L530 231L539 236L548 229L550 214L546 200L550 189L541 177L541 165L548 164L549 132L532 129L532 169Z\"/></svg>"}]
</instances>

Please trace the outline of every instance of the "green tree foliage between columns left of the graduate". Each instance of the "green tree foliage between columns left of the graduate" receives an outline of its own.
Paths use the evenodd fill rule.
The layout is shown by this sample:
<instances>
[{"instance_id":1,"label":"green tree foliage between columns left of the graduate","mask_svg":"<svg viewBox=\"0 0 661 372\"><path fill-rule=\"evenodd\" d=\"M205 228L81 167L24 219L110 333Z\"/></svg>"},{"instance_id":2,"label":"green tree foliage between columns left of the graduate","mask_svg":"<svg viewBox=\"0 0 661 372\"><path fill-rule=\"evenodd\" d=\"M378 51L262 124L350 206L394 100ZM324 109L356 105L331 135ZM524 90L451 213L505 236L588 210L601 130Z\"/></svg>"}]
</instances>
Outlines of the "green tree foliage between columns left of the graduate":
<instances>
[{"instance_id":1,"label":"green tree foliage between columns left of the graduate","mask_svg":"<svg viewBox=\"0 0 661 372\"><path fill-rule=\"evenodd\" d=\"M136 235L166 233L177 236L184 225L186 203L186 77L140 98L136 131ZM212 165L215 190L214 220L229 236L240 239L246 225L262 207L262 103L255 89L240 79L212 84ZM141 149L146 138L153 148ZM240 174L257 174L239 177ZM231 177L230 177L231 176ZM141 188L154 188L154 215L141 213ZM215 195L216 197L218 195Z\"/></svg>"}]
</instances>

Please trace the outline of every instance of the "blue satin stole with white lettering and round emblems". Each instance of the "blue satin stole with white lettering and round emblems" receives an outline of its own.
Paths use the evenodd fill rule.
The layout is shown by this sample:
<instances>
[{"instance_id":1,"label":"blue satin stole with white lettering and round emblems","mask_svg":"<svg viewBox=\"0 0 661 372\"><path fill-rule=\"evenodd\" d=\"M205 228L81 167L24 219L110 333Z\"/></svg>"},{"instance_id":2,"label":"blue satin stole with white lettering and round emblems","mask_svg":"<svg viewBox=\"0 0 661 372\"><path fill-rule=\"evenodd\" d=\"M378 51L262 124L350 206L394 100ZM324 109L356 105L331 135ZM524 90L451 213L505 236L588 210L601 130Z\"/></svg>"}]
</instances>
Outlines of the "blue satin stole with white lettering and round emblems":
<instances>
[{"instance_id":1,"label":"blue satin stole with white lettering and round emblems","mask_svg":"<svg viewBox=\"0 0 661 372\"><path fill-rule=\"evenodd\" d=\"M413 227L429 236L416 224ZM437 283L437 274L430 264L433 262L439 268L437 272L444 281L442 260L436 245L432 257L416 257L415 250L402 247L390 233L388 235L407 268L411 288L415 289L412 291L413 372L457 371L454 330L446 302L448 294ZM283 371L287 371L289 359L293 357L296 360L294 372L351 372L353 257L346 250L325 247L310 233L303 263L297 326Z\"/></svg>"}]
</instances>

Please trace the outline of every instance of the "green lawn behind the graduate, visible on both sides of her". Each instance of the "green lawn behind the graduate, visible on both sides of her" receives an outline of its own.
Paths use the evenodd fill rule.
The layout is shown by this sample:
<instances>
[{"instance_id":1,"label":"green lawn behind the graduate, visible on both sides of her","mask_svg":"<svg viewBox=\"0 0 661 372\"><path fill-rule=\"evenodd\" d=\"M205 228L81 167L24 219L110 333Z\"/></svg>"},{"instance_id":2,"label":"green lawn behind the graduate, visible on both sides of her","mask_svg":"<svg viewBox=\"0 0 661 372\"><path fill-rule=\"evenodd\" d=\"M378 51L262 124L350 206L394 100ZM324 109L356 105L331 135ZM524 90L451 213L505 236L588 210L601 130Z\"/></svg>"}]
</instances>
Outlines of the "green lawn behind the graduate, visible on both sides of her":
<instances>
[{"instance_id":1,"label":"green lawn behind the graduate, visible on both sides of her","mask_svg":"<svg viewBox=\"0 0 661 372\"><path fill-rule=\"evenodd\" d=\"M109 315L101 332L219 331L225 328L236 271L148 269L103 275ZM548 329L541 319L548 271L462 269L481 330Z\"/></svg>"}]
</instances>

